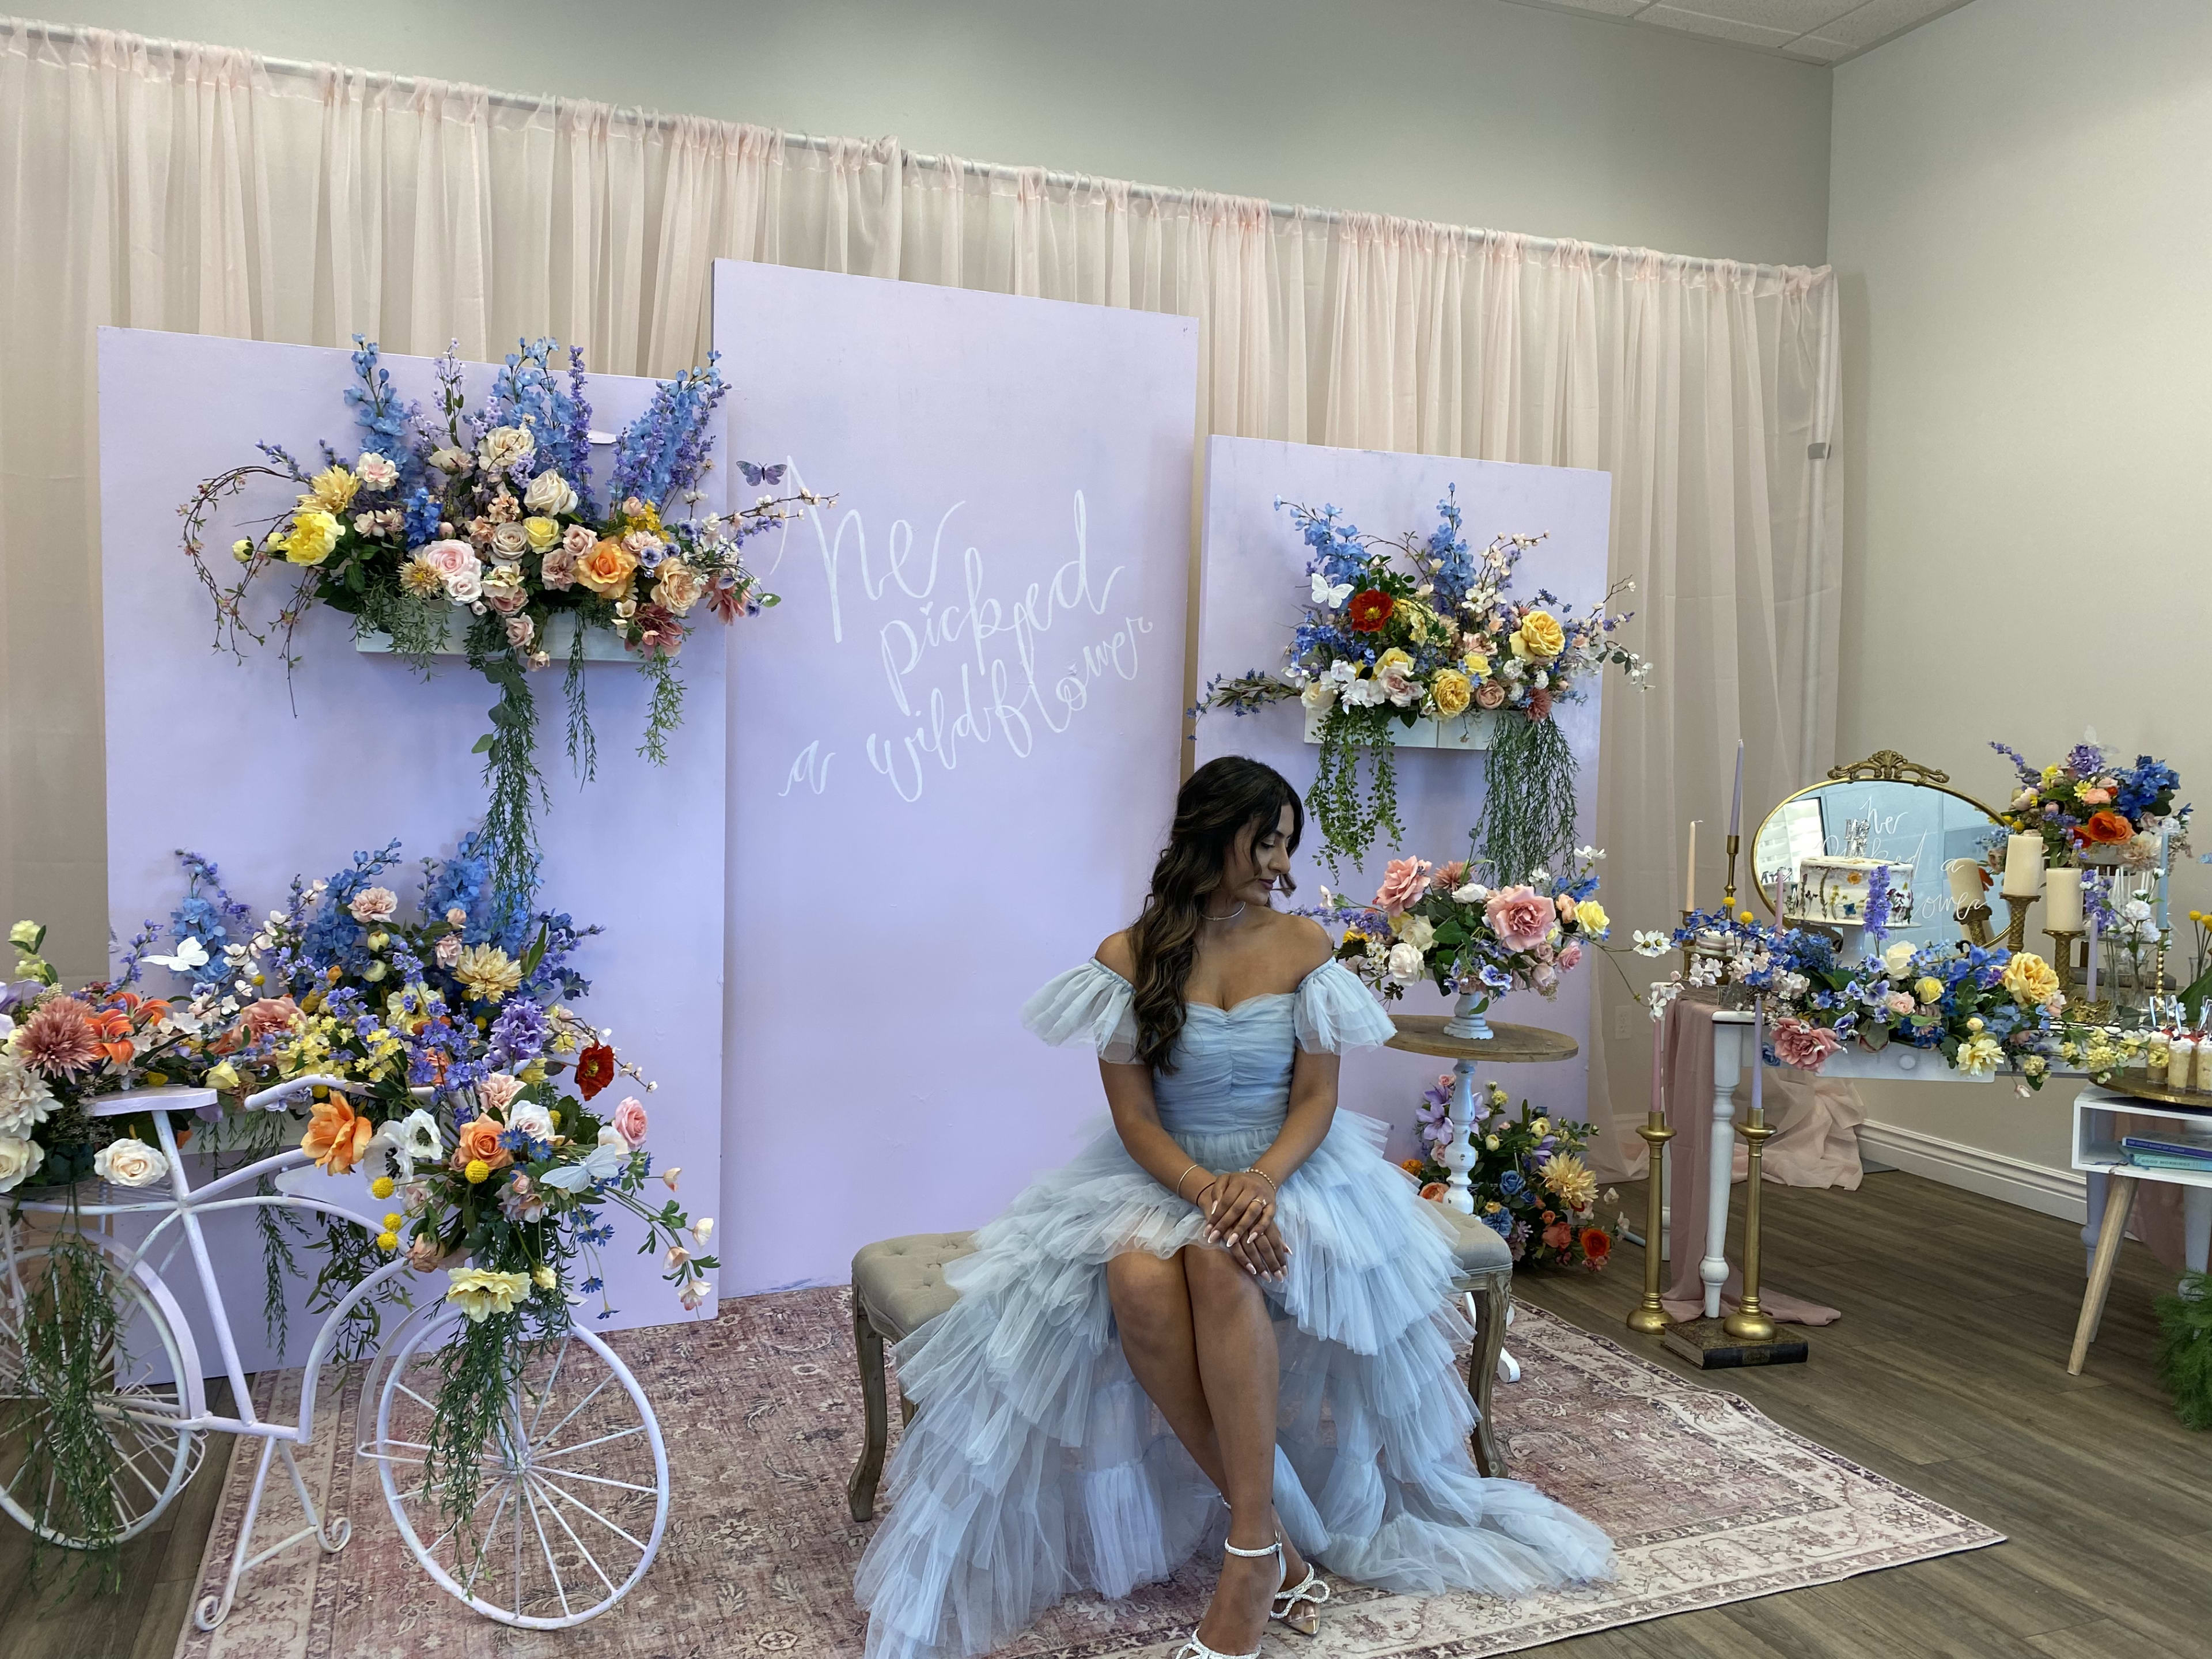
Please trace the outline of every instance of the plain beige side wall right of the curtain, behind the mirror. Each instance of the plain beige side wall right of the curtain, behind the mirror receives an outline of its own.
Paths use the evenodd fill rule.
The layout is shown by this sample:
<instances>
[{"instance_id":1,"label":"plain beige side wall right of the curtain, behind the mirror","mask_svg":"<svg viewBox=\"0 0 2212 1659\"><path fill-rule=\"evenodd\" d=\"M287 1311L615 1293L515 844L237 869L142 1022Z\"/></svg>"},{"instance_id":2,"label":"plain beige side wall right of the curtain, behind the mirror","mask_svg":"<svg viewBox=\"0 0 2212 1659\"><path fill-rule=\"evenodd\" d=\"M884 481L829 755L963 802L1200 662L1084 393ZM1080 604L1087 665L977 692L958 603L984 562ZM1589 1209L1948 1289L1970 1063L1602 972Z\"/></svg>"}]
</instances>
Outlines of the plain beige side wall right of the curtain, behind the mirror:
<instances>
[{"instance_id":1,"label":"plain beige side wall right of the curtain, behind the mirror","mask_svg":"<svg viewBox=\"0 0 2212 1659\"><path fill-rule=\"evenodd\" d=\"M1989 739L2055 759L2095 723L2212 810L2208 155L2203 0L1975 0L1836 69L1851 757L1896 748L1995 799ZM2177 909L2212 902L2208 876L2183 872ZM2064 1168L2070 1095L1887 1086L1867 1108L2033 1183L2002 1159Z\"/></svg>"}]
</instances>

